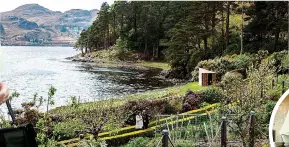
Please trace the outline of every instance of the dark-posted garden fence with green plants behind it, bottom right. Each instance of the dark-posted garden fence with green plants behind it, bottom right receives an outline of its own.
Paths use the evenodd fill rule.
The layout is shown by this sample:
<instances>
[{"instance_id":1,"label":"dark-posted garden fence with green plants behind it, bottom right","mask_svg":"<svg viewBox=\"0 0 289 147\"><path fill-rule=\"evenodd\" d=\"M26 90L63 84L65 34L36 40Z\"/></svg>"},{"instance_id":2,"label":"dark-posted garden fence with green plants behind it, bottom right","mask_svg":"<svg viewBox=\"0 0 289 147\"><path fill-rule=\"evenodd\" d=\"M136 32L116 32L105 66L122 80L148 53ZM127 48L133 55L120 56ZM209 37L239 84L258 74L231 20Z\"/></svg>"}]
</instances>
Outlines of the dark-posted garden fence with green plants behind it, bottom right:
<instances>
[{"instance_id":1,"label":"dark-posted garden fence with green plants behind it, bottom right","mask_svg":"<svg viewBox=\"0 0 289 147\"><path fill-rule=\"evenodd\" d=\"M163 116L163 115L161 115ZM184 117L183 115L176 115L175 120L178 117ZM194 118L189 120L187 123L181 121L176 124L167 123L161 131L157 133L156 138L159 141L156 143L156 147L169 147L169 146L243 146L242 140L234 132L236 129L236 124L230 119L231 116L218 117L212 116L210 113L208 115L194 115ZM220 121L214 118L219 118ZM205 121L207 119L208 121ZM248 147L256 146L255 138L255 113L250 112L249 122L248 122ZM178 126L179 125L179 126ZM157 134L161 136L158 137ZM186 145L187 143L187 145Z\"/></svg>"}]
</instances>

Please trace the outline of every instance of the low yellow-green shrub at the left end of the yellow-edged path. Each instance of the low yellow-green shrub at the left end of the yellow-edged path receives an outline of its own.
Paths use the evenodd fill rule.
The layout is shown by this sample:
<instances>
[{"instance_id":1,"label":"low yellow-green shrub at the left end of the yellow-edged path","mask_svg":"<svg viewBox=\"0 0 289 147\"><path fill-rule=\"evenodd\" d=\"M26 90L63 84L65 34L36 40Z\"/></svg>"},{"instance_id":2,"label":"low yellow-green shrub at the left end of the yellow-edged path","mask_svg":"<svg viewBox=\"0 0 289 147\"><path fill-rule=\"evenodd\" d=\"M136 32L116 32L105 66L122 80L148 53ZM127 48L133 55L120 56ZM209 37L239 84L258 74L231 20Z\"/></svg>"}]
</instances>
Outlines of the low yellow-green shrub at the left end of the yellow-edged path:
<instances>
[{"instance_id":1,"label":"low yellow-green shrub at the left end of the yellow-edged path","mask_svg":"<svg viewBox=\"0 0 289 147\"><path fill-rule=\"evenodd\" d=\"M84 129L85 123L82 120L70 119L55 124L53 134L58 140L64 140L78 136Z\"/></svg>"}]
</instances>

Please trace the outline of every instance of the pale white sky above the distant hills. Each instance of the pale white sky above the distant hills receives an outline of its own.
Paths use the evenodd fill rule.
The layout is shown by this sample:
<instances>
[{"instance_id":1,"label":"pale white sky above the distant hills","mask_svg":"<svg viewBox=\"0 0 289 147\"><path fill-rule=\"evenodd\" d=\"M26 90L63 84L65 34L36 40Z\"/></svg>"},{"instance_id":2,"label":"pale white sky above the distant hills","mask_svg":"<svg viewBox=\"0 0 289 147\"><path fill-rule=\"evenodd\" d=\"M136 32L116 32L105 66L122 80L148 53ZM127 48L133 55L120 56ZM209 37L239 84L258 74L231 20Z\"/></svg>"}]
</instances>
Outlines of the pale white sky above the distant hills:
<instances>
[{"instance_id":1,"label":"pale white sky above the distant hills","mask_svg":"<svg viewBox=\"0 0 289 147\"><path fill-rule=\"evenodd\" d=\"M112 4L114 0L2 0L0 12L11 11L24 4L39 4L53 11L67 11L70 9L100 9L103 2Z\"/></svg>"}]
</instances>

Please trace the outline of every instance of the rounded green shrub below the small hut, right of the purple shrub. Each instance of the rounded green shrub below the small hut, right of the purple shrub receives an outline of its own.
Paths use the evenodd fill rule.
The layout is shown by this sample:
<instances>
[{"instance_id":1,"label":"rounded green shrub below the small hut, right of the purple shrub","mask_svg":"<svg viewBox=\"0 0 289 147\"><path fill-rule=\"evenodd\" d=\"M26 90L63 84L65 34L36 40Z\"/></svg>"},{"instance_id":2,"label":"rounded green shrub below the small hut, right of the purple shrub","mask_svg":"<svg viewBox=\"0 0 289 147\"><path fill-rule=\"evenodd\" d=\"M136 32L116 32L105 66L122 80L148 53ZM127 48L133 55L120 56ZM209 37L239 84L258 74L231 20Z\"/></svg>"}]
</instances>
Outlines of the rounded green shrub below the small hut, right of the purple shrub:
<instances>
[{"instance_id":1,"label":"rounded green shrub below the small hut, right of the purple shrub","mask_svg":"<svg viewBox=\"0 0 289 147\"><path fill-rule=\"evenodd\" d=\"M224 97L225 95L223 95L222 91L218 88L207 88L202 91L203 101L209 104L220 102Z\"/></svg>"}]
</instances>

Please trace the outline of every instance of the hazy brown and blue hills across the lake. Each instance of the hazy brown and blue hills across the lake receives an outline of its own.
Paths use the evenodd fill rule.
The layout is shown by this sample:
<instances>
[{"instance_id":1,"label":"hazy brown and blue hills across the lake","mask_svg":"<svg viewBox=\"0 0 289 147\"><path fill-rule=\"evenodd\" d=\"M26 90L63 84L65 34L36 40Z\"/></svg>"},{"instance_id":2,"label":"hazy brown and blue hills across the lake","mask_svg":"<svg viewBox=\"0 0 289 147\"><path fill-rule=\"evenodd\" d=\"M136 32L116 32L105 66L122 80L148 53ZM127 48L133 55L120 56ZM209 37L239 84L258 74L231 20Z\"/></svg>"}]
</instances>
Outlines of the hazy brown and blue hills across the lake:
<instances>
[{"instance_id":1,"label":"hazy brown and blue hills across the lake","mask_svg":"<svg viewBox=\"0 0 289 147\"><path fill-rule=\"evenodd\" d=\"M64 13L38 4L22 5L2 12L2 45L72 46L83 29L96 18L98 10L72 9Z\"/></svg>"}]
</instances>

